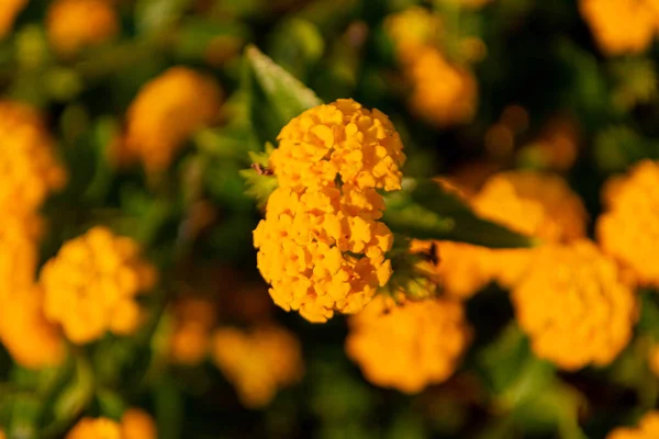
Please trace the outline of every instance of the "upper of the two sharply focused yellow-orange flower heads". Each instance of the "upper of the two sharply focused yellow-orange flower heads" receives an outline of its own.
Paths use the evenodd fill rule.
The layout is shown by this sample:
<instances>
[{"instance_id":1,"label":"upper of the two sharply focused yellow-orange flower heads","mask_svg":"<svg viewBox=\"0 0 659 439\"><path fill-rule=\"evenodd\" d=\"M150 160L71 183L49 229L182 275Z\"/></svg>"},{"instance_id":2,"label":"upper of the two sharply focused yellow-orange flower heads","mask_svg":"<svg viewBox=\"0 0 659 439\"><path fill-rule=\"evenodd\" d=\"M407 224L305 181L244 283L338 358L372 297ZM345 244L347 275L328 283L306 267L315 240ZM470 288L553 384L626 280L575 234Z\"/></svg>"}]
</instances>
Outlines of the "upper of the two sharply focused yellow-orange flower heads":
<instances>
[{"instance_id":1,"label":"upper of the two sharply focused yellow-orange flower heads","mask_svg":"<svg viewBox=\"0 0 659 439\"><path fill-rule=\"evenodd\" d=\"M337 179L359 190L401 188L405 155L398 132L387 115L351 99L305 111L277 139L270 166L281 188L332 188Z\"/></svg>"}]
</instances>

